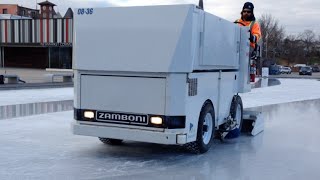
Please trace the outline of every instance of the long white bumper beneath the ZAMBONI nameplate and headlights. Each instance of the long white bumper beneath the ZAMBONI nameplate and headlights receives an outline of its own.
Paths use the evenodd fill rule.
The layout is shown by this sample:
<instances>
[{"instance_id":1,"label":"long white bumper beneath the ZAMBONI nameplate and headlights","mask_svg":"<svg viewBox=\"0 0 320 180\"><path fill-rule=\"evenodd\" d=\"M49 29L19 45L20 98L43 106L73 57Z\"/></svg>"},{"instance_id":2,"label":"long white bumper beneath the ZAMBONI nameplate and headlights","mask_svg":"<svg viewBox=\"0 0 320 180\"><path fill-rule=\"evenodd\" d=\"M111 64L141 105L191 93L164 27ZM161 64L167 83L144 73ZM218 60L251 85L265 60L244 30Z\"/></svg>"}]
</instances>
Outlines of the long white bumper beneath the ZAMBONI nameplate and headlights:
<instances>
[{"instance_id":1,"label":"long white bumper beneath the ZAMBONI nameplate and headlights","mask_svg":"<svg viewBox=\"0 0 320 180\"><path fill-rule=\"evenodd\" d=\"M183 129L181 130L183 131ZM132 140L157 144L185 144L187 134L183 132L162 132L145 129L86 124L79 121L72 123L72 132L76 135Z\"/></svg>"}]
</instances>

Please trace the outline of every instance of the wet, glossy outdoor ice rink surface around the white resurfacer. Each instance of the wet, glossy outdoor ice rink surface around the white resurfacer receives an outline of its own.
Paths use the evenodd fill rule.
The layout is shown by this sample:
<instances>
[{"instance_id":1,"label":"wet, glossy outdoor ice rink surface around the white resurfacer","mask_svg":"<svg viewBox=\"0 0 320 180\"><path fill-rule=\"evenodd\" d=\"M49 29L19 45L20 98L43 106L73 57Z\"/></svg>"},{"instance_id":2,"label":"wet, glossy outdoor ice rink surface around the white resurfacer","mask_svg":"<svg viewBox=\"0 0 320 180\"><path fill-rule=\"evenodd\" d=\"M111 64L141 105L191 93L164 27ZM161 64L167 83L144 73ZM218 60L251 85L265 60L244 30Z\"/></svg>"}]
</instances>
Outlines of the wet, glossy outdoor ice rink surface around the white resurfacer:
<instances>
[{"instance_id":1,"label":"wet, glossy outdoor ice rink surface around the white resurfacer","mask_svg":"<svg viewBox=\"0 0 320 180\"><path fill-rule=\"evenodd\" d=\"M75 136L72 111L0 120L0 179L319 180L320 81L280 81L241 95L245 108L263 112L264 132L216 140L202 155L177 146L107 146ZM72 88L42 90L24 103L45 102L52 91L60 92L57 99L72 98ZM20 92L0 91L3 97L10 93ZM2 106L14 102L7 97Z\"/></svg>"}]
</instances>

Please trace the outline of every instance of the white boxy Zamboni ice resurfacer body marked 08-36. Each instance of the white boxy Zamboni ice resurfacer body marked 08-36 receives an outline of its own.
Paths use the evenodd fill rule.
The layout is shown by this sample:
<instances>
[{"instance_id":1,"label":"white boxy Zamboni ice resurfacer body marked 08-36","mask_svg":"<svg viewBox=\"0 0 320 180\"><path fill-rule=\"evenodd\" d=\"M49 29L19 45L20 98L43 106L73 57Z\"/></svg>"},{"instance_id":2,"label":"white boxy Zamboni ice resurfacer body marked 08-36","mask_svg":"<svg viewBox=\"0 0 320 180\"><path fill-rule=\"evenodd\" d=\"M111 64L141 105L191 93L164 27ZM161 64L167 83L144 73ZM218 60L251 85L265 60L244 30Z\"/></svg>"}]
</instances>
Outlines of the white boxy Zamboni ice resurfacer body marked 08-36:
<instances>
[{"instance_id":1,"label":"white boxy Zamboni ice resurfacer body marked 08-36","mask_svg":"<svg viewBox=\"0 0 320 180\"><path fill-rule=\"evenodd\" d=\"M250 91L248 29L195 5L97 8L74 23L75 134L186 144L208 106L206 144Z\"/></svg>"}]
</instances>

